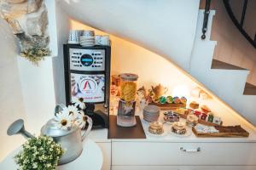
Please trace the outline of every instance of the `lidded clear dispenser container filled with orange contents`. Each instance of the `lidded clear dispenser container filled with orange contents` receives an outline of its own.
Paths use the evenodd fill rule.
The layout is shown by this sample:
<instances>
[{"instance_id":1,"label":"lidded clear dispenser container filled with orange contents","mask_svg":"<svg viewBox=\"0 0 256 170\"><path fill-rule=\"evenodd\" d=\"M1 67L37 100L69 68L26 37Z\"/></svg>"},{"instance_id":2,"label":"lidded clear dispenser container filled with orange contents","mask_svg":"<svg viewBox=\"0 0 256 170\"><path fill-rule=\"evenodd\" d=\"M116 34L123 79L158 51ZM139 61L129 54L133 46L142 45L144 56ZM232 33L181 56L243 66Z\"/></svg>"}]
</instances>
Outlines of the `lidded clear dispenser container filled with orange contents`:
<instances>
[{"instance_id":1,"label":"lidded clear dispenser container filled with orange contents","mask_svg":"<svg viewBox=\"0 0 256 170\"><path fill-rule=\"evenodd\" d=\"M121 74L120 77L120 99L124 100L127 103L131 103L136 98L138 76L136 74L125 73Z\"/></svg>"}]
</instances>

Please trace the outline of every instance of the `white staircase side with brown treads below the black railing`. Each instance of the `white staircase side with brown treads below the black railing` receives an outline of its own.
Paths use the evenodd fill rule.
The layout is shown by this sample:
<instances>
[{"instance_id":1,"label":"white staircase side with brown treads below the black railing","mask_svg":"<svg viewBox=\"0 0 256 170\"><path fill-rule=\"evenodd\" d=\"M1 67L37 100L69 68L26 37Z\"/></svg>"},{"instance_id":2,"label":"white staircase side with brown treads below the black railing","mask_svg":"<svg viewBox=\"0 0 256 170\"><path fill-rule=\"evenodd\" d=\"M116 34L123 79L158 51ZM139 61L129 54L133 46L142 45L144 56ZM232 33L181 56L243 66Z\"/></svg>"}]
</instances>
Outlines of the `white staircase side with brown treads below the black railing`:
<instances>
[{"instance_id":1,"label":"white staircase side with brown treads below the black railing","mask_svg":"<svg viewBox=\"0 0 256 170\"><path fill-rule=\"evenodd\" d=\"M189 73L207 88L211 89L220 99L256 124L256 87L247 83L249 71L236 65L212 59L217 42L210 40L212 17L211 10L208 23L207 38L201 40L201 26L204 10L199 10L195 46L191 56Z\"/></svg>"}]
</instances>

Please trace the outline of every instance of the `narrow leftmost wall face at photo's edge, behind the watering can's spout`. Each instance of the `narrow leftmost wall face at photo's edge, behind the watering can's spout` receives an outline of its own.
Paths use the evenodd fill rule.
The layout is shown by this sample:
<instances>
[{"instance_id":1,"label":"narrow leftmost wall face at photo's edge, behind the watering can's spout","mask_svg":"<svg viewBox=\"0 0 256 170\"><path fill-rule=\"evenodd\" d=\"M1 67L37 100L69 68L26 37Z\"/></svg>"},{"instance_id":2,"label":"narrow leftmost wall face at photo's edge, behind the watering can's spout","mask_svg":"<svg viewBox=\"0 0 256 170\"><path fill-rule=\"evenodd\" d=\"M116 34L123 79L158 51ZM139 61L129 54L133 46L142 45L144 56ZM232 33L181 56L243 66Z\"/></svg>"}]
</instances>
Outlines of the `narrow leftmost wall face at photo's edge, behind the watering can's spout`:
<instances>
[{"instance_id":1,"label":"narrow leftmost wall face at photo's edge, behind the watering can's spout","mask_svg":"<svg viewBox=\"0 0 256 170\"><path fill-rule=\"evenodd\" d=\"M9 124L18 118L26 118L26 115L17 65L16 39L9 25L1 18L0 37L0 161L2 161L4 156L24 141L21 136L7 135Z\"/></svg>"}]
</instances>

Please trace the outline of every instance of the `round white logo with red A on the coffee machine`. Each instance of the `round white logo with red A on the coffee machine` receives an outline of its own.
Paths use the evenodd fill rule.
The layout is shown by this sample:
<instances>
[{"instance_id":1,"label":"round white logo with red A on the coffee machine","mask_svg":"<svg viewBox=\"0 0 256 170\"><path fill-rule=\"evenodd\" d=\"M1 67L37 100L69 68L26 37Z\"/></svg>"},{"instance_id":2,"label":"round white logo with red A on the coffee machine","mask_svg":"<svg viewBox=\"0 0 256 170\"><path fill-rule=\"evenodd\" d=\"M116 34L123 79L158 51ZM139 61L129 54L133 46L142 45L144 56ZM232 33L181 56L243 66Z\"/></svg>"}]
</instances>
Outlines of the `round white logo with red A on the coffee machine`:
<instances>
[{"instance_id":1,"label":"round white logo with red A on the coffee machine","mask_svg":"<svg viewBox=\"0 0 256 170\"><path fill-rule=\"evenodd\" d=\"M92 78L86 77L81 80L79 88L84 94L94 94L96 92L97 82Z\"/></svg>"}]
</instances>

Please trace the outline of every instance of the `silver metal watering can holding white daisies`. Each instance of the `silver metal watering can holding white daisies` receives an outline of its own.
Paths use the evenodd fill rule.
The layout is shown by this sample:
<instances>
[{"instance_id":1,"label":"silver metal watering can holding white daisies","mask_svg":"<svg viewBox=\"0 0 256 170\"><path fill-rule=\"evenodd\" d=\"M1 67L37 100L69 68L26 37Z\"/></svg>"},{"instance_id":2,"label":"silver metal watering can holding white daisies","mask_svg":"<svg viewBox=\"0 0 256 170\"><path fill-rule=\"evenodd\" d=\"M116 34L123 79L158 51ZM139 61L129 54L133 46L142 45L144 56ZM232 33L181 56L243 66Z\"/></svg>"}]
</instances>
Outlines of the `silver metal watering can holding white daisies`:
<instances>
[{"instance_id":1,"label":"silver metal watering can holding white daisies","mask_svg":"<svg viewBox=\"0 0 256 170\"><path fill-rule=\"evenodd\" d=\"M57 105L55 107L55 114L60 111L63 105ZM69 130L60 129L55 126L54 119L50 119L42 128L41 134L52 137L56 143L61 144L62 149L65 150L64 155L61 156L58 165L68 163L78 158L83 151L83 140L90 133L92 127L92 120L87 116L88 127L86 130L81 130L77 126L71 127ZM15 134L21 134L26 139L34 138L34 136L27 132L24 127L24 121L19 119L13 122L8 130L9 136Z\"/></svg>"}]
</instances>

